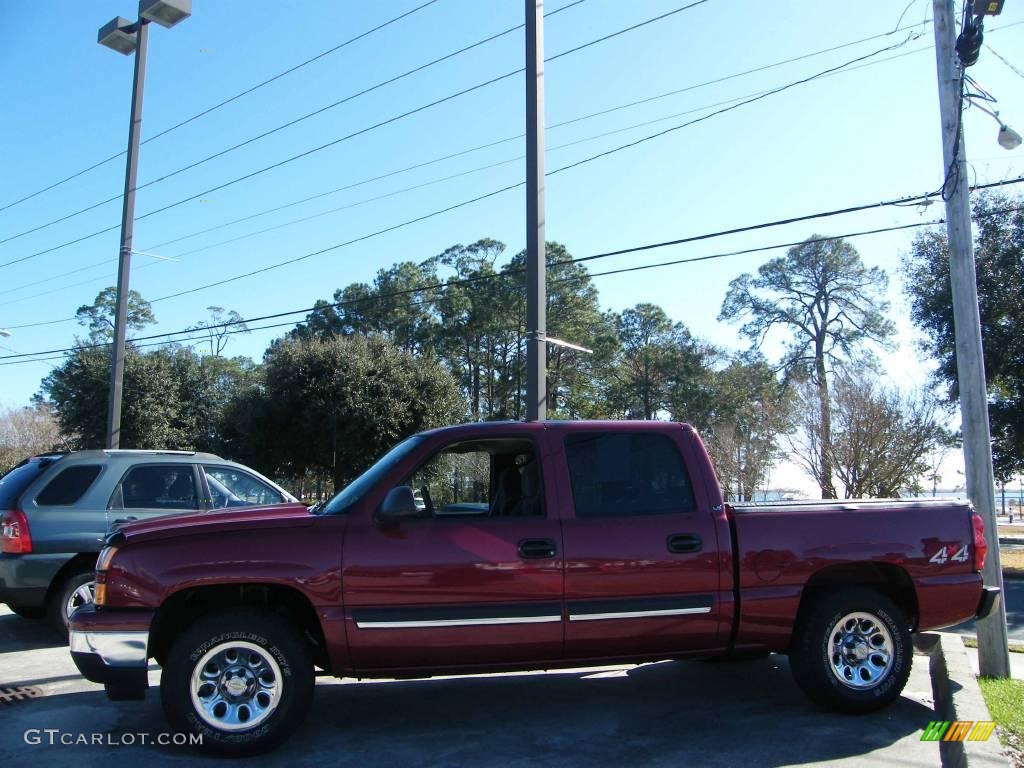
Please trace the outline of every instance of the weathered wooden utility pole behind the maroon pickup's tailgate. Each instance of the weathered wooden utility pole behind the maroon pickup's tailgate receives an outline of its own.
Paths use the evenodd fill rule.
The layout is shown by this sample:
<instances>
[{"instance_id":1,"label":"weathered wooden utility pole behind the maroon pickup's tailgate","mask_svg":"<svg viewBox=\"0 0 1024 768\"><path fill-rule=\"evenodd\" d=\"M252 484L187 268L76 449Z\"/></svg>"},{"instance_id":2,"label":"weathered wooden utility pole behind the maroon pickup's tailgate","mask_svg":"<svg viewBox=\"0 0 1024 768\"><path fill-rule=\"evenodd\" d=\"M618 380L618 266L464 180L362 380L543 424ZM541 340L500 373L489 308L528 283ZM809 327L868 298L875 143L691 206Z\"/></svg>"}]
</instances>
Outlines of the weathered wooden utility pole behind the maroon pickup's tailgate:
<instances>
[{"instance_id":1,"label":"weathered wooden utility pole behind the maroon pickup's tailgate","mask_svg":"<svg viewBox=\"0 0 1024 768\"><path fill-rule=\"evenodd\" d=\"M999 537L995 518L992 447L989 442L988 401L982 354L978 285L971 236L971 200L962 121L962 72L954 46L953 0L932 0L935 19L935 60L942 114L942 155L946 201L946 234L949 244L949 282L956 331L956 375L964 431L964 465L967 494L985 521L985 584L1002 588ZM951 177L951 180L950 180ZM951 188L950 188L951 187ZM1005 592L1002 593L1006 594ZM1002 600L988 617L978 622L978 662L985 677L1010 677L1007 611Z\"/></svg>"}]
</instances>

